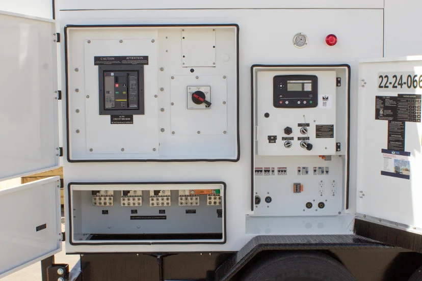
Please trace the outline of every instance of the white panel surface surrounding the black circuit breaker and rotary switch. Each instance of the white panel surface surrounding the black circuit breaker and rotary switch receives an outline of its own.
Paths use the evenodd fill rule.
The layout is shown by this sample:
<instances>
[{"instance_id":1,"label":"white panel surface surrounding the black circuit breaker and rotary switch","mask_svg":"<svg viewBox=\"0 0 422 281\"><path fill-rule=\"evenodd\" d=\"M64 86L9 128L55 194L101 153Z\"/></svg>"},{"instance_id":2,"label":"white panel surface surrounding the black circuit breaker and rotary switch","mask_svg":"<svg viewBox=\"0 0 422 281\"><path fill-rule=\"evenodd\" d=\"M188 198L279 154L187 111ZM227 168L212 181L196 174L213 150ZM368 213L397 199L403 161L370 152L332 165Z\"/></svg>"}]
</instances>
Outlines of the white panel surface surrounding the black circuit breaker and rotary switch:
<instances>
[{"instance_id":1,"label":"white panel surface surrounding the black circuit breaker and rotary switch","mask_svg":"<svg viewBox=\"0 0 422 281\"><path fill-rule=\"evenodd\" d=\"M67 27L69 160L238 159L237 27L208 29L216 65L186 68L181 64L182 33L189 40L205 40L204 27ZM204 46L196 47L189 51L189 65L205 66ZM148 55L145 114L134 115L133 124L110 124L110 116L98 114L94 56L104 55ZM198 83L211 86L210 109L187 108L187 87Z\"/></svg>"}]
</instances>

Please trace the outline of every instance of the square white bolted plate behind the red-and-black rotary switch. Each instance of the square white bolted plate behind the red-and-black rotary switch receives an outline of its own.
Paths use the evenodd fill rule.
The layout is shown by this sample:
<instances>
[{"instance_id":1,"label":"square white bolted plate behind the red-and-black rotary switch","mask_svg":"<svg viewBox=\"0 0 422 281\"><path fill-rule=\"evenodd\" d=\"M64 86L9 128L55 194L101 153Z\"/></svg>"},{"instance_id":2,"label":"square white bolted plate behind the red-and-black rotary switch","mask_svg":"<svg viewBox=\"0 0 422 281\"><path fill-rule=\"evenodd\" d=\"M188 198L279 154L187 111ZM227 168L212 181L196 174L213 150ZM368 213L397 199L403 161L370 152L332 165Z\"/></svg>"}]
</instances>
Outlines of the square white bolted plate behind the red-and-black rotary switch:
<instances>
[{"instance_id":1,"label":"square white bolted plate behind the red-and-black rotary switch","mask_svg":"<svg viewBox=\"0 0 422 281\"><path fill-rule=\"evenodd\" d=\"M171 79L171 131L182 135L224 135L227 133L227 79L221 75L181 75ZM198 77L198 78L196 78ZM188 86L188 87L187 87ZM190 86L190 87L189 87ZM188 109L187 92L195 86L210 87L209 109ZM192 89L190 89L192 88ZM202 143L202 140L198 139ZM213 148L203 147L208 153Z\"/></svg>"}]
</instances>

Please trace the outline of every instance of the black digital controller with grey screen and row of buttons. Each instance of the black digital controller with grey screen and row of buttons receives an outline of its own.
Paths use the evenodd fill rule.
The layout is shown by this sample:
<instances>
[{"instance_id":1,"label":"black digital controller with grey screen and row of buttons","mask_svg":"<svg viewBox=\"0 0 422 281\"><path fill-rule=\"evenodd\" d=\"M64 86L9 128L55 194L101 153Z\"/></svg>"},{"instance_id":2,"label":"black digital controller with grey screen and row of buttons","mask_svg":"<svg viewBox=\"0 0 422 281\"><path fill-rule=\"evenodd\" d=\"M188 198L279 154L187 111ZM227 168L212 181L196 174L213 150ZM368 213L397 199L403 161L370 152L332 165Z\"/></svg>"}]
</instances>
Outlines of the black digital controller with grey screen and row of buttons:
<instances>
[{"instance_id":1,"label":"black digital controller with grey screen and row of buttons","mask_svg":"<svg viewBox=\"0 0 422 281\"><path fill-rule=\"evenodd\" d=\"M318 77L315 75L274 76L274 107L318 106Z\"/></svg>"}]
</instances>

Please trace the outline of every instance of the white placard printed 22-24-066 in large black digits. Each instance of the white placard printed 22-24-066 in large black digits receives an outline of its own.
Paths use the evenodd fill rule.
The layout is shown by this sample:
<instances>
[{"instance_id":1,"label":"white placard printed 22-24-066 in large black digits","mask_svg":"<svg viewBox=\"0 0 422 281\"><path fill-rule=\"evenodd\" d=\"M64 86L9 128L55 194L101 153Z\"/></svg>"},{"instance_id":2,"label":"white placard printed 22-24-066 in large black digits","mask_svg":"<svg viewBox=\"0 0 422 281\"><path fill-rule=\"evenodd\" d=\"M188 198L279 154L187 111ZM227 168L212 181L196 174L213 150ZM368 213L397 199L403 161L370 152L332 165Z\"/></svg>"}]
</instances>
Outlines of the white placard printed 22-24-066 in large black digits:
<instances>
[{"instance_id":1,"label":"white placard printed 22-24-066 in large black digits","mask_svg":"<svg viewBox=\"0 0 422 281\"><path fill-rule=\"evenodd\" d=\"M415 93L422 89L422 73L415 72L379 72L379 92ZM419 92L419 91L418 91Z\"/></svg>"}]
</instances>

